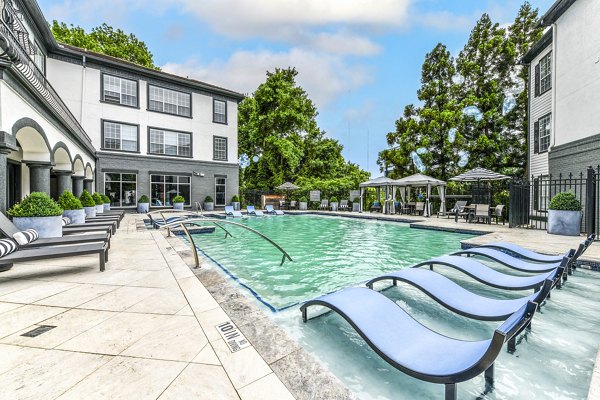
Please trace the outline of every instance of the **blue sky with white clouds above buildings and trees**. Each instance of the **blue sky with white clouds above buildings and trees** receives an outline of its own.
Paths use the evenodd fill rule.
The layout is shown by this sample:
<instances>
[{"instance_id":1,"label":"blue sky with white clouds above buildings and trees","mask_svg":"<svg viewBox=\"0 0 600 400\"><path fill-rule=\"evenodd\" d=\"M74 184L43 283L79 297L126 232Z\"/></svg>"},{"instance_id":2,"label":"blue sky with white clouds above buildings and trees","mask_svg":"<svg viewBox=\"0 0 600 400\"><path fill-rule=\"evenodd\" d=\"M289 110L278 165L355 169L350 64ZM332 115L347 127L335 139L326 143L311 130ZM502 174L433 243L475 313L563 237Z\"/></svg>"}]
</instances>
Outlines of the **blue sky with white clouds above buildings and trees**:
<instances>
[{"instance_id":1,"label":"blue sky with white clouds above buildings and trees","mask_svg":"<svg viewBox=\"0 0 600 400\"><path fill-rule=\"evenodd\" d=\"M295 67L318 124L344 157L380 176L404 106L417 103L425 54L458 55L488 13L501 26L522 0L38 0L48 21L103 22L143 40L164 71L251 94ZM545 13L553 0L530 0Z\"/></svg>"}]
</instances>

